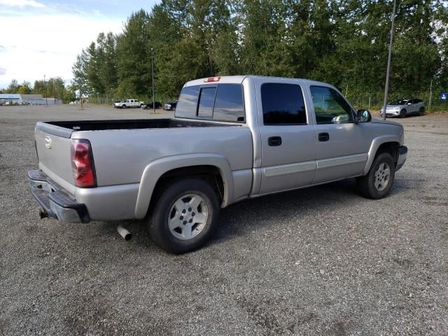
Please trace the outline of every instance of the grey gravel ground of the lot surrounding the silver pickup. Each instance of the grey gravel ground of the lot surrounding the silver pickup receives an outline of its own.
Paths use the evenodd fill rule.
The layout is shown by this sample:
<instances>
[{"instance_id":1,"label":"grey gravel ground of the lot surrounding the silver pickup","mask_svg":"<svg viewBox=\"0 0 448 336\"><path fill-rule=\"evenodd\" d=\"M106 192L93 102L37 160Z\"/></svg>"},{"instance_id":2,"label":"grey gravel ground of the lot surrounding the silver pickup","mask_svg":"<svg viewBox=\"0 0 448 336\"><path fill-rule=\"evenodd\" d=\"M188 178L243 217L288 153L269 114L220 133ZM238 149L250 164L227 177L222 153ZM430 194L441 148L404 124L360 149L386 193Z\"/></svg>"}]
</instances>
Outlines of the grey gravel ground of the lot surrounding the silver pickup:
<instances>
[{"instance_id":1,"label":"grey gravel ground of the lot surrounding the silver pickup","mask_svg":"<svg viewBox=\"0 0 448 336\"><path fill-rule=\"evenodd\" d=\"M124 241L38 218L37 120L148 116L0 107L0 335L448 335L448 115L398 120L408 160L384 200L342 181L240 202L187 255L138 221Z\"/></svg>"}]
</instances>

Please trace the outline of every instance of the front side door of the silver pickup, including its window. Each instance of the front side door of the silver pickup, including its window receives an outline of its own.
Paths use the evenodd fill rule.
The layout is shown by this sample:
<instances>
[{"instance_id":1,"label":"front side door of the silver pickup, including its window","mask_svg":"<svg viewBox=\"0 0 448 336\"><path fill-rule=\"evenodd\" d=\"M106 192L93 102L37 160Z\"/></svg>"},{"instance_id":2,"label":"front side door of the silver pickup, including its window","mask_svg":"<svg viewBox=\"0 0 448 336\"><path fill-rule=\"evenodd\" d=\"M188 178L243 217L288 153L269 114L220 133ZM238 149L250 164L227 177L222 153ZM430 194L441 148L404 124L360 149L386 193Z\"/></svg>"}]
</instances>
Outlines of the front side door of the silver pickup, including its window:
<instances>
[{"instance_id":1,"label":"front side door of the silver pickup, including its window","mask_svg":"<svg viewBox=\"0 0 448 336\"><path fill-rule=\"evenodd\" d=\"M316 174L323 183L363 174L372 136L365 123L354 123L354 111L332 87L311 85L316 118Z\"/></svg>"}]
</instances>

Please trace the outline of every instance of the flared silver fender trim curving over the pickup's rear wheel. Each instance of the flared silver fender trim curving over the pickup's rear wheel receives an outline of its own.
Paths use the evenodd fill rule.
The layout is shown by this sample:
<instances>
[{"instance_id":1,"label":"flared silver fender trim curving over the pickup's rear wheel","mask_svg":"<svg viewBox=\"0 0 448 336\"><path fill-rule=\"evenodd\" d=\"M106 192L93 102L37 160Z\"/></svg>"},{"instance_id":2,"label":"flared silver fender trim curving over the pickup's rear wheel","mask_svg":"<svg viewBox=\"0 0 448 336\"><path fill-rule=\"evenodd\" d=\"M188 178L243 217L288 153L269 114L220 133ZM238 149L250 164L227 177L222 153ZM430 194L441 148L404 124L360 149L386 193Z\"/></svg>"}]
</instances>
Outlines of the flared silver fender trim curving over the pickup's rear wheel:
<instances>
[{"instance_id":1,"label":"flared silver fender trim curving over the pickup's rear wheel","mask_svg":"<svg viewBox=\"0 0 448 336\"><path fill-rule=\"evenodd\" d=\"M214 166L219 169L224 184L221 207L227 206L233 198L233 177L232 169L230 169L226 158L212 153L175 155L155 160L144 169L141 176L139 194L137 195L135 218L141 219L146 216L155 185L163 174L173 169L203 165Z\"/></svg>"}]
</instances>

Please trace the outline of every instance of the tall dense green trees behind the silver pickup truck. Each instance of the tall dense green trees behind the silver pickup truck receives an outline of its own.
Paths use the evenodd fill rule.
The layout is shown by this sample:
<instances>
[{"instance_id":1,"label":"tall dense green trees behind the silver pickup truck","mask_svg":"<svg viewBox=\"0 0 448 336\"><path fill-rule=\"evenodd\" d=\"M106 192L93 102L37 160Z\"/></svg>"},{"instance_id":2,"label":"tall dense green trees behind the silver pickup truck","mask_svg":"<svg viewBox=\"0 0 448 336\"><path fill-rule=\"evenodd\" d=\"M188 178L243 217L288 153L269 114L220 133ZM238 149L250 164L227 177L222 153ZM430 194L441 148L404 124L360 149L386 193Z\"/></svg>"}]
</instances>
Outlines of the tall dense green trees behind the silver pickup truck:
<instances>
[{"instance_id":1,"label":"tall dense green trees behind the silver pickup truck","mask_svg":"<svg viewBox=\"0 0 448 336\"><path fill-rule=\"evenodd\" d=\"M345 91L384 89L392 1L162 0L123 33L99 34L73 64L83 94L177 97L195 78L254 74L311 78ZM448 9L398 0L391 94L448 88Z\"/></svg>"}]
</instances>

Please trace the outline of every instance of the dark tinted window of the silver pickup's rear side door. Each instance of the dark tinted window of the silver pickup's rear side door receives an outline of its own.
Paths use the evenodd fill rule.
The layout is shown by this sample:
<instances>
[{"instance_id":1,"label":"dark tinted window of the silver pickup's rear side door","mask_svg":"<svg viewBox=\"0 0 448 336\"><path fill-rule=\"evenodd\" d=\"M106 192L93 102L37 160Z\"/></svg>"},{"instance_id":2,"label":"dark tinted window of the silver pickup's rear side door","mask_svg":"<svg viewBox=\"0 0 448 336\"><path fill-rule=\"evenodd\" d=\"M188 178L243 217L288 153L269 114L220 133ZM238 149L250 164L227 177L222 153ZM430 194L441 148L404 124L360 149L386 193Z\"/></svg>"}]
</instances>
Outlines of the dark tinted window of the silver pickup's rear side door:
<instances>
[{"instance_id":1,"label":"dark tinted window of the silver pickup's rear side door","mask_svg":"<svg viewBox=\"0 0 448 336\"><path fill-rule=\"evenodd\" d=\"M265 125L306 125L302 88L295 84L266 83L261 86Z\"/></svg>"}]
</instances>

